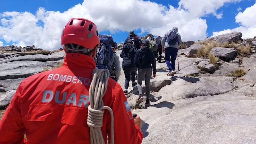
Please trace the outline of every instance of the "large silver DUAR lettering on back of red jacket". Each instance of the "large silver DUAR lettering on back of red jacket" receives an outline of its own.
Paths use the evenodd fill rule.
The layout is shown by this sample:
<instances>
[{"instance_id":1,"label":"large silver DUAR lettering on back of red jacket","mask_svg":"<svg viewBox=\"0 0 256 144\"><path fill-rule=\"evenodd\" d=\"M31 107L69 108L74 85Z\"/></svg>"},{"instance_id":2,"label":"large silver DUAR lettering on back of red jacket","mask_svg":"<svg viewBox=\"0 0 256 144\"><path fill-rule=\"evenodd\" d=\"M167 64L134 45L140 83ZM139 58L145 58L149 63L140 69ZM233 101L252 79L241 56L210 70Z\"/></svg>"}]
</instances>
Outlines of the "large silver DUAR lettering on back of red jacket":
<instances>
[{"instance_id":1,"label":"large silver DUAR lettering on back of red jacket","mask_svg":"<svg viewBox=\"0 0 256 144\"><path fill-rule=\"evenodd\" d=\"M56 91L55 95L54 92L51 90L44 90L43 92L43 97L42 97L42 102L51 102L54 99L54 102L57 104L65 104L66 105L73 105L73 106L78 106L78 107L85 107L88 108L89 105L89 96L81 94L79 98L76 97L76 93L71 93L67 97L67 92L62 93L62 97L60 99L60 91ZM77 102L78 100L78 102Z\"/></svg>"}]
</instances>

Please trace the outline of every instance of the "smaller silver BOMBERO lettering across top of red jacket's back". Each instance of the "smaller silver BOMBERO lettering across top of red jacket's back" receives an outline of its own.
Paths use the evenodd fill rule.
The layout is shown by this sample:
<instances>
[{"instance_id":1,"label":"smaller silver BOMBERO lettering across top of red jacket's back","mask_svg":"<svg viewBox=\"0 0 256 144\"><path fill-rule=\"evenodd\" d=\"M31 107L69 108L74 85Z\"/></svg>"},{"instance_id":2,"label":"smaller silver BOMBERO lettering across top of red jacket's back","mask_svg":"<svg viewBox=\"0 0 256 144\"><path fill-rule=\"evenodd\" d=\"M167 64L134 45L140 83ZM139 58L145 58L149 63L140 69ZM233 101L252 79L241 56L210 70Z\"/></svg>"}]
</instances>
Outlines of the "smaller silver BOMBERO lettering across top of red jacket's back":
<instances>
[{"instance_id":1,"label":"smaller silver BOMBERO lettering across top of red jacket's back","mask_svg":"<svg viewBox=\"0 0 256 144\"><path fill-rule=\"evenodd\" d=\"M62 81L62 82L72 82L72 83L81 83L84 85L89 85L91 80L89 78L77 77L71 75L62 75L62 74L49 74L47 80Z\"/></svg>"}]
</instances>

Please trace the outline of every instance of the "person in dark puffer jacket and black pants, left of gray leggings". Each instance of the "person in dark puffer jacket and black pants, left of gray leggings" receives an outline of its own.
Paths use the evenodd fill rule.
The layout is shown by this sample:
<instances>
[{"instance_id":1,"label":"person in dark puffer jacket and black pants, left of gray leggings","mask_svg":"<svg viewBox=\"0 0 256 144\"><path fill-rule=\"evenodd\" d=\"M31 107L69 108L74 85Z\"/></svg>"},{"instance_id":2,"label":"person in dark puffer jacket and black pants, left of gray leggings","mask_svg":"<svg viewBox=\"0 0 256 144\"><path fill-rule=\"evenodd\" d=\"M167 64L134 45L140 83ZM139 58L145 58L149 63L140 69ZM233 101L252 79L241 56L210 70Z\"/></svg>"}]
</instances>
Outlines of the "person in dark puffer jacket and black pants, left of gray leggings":
<instances>
[{"instance_id":1,"label":"person in dark puffer jacket and black pants, left of gray leggings","mask_svg":"<svg viewBox=\"0 0 256 144\"><path fill-rule=\"evenodd\" d=\"M124 93L128 95L128 87L130 82L130 75L132 79L132 87L136 86L135 82L135 63L134 56L137 49L133 47L133 42L131 40L127 41L127 43L123 44L123 50L120 54L120 57L123 58L122 68L125 75L124 82Z\"/></svg>"}]
</instances>

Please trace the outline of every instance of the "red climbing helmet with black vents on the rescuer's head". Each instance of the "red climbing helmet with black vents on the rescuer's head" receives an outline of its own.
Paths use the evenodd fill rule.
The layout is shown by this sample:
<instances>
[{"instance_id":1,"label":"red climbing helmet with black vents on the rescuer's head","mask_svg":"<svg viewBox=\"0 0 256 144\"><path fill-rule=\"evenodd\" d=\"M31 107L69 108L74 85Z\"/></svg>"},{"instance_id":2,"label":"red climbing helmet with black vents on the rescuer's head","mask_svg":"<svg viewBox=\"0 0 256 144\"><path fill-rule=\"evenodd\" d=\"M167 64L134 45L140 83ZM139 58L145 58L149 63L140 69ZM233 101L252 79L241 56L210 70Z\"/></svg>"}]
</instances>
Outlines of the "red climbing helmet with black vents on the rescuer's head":
<instances>
[{"instance_id":1,"label":"red climbing helmet with black vents on the rescuer's head","mask_svg":"<svg viewBox=\"0 0 256 144\"><path fill-rule=\"evenodd\" d=\"M61 34L61 45L77 44L88 49L100 45L97 26L84 18L72 18Z\"/></svg>"}]
</instances>

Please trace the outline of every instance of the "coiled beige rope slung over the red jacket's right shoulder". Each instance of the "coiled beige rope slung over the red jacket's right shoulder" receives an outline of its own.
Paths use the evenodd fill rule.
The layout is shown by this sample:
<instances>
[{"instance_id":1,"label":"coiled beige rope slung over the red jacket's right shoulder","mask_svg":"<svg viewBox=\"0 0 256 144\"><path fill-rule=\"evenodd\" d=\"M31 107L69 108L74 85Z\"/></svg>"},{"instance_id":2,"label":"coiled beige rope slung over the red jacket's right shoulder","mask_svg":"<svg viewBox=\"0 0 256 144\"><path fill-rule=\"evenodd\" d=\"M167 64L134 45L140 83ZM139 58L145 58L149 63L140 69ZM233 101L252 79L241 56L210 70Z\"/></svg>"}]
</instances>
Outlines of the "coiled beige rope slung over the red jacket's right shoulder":
<instances>
[{"instance_id":1,"label":"coiled beige rope slung over the red jacket's right shoulder","mask_svg":"<svg viewBox=\"0 0 256 144\"><path fill-rule=\"evenodd\" d=\"M111 115L111 142L114 144L114 115L110 107L104 106L102 98L107 90L109 71L94 69L93 78L89 89L90 105L88 107L87 125L90 127L91 144L105 144L101 127L103 125L104 109ZM109 142L110 143L110 142Z\"/></svg>"}]
</instances>

